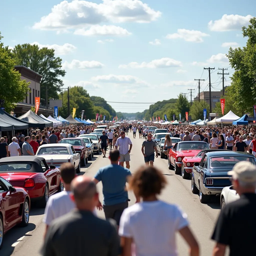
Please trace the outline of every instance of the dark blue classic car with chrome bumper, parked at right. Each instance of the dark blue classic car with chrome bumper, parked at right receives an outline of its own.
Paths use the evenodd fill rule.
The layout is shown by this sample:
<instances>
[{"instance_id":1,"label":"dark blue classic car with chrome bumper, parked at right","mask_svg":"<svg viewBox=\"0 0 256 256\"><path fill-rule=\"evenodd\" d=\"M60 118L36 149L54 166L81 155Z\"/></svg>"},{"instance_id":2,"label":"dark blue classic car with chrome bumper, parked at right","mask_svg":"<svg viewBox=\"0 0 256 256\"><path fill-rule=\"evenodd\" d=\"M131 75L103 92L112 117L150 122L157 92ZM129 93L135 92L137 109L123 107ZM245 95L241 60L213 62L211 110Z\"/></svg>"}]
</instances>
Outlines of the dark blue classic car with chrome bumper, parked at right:
<instances>
[{"instance_id":1,"label":"dark blue classic car with chrome bumper, parked at right","mask_svg":"<svg viewBox=\"0 0 256 256\"><path fill-rule=\"evenodd\" d=\"M192 193L199 192L201 203L208 202L211 195L220 195L224 187L231 185L228 171L240 161L249 161L256 165L255 157L250 153L214 151L204 154L200 163L196 162L193 167Z\"/></svg>"}]
</instances>

